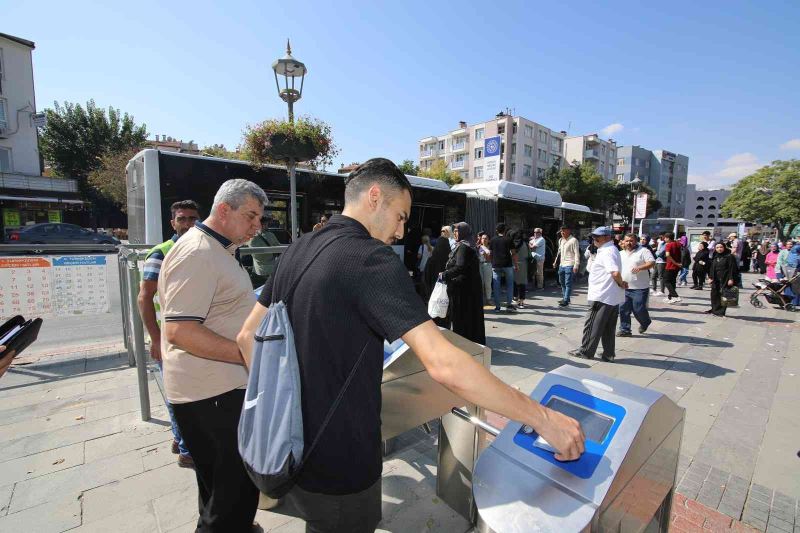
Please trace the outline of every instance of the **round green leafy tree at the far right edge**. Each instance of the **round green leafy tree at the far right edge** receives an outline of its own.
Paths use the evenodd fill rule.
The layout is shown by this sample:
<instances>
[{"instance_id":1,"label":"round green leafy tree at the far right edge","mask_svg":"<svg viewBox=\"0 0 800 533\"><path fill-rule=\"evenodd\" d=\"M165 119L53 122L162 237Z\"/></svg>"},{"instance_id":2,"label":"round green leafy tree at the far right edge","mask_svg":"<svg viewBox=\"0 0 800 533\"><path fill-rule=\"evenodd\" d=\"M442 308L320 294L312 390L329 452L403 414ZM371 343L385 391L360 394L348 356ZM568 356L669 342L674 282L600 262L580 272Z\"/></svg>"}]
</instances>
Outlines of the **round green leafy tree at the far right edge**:
<instances>
[{"instance_id":1,"label":"round green leafy tree at the far right edge","mask_svg":"<svg viewBox=\"0 0 800 533\"><path fill-rule=\"evenodd\" d=\"M800 160L773 161L739 180L722 204L721 213L750 222L772 224L778 238L791 235L800 223ZM784 228L788 225L787 233Z\"/></svg>"}]
</instances>

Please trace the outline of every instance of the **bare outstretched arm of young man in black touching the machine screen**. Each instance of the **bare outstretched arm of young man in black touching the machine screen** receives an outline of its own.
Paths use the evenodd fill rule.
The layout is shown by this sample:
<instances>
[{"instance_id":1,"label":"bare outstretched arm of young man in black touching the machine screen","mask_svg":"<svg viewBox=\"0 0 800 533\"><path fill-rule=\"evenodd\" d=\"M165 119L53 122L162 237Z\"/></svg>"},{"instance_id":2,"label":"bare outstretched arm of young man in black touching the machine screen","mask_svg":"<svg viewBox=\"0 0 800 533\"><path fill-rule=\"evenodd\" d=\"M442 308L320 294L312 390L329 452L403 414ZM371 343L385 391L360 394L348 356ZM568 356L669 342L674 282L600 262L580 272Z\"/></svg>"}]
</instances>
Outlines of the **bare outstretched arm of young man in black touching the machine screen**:
<instances>
[{"instance_id":1,"label":"bare outstretched arm of young man in black touching the machine screen","mask_svg":"<svg viewBox=\"0 0 800 533\"><path fill-rule=\"evenodd\" d=\"M577 421L547 409L500 381L469 354L456 348L431 322L403 335L431 377L470 403L533 427L556 450L556 459L577 459L586 440Z\"/></svg>"}]
</instances>

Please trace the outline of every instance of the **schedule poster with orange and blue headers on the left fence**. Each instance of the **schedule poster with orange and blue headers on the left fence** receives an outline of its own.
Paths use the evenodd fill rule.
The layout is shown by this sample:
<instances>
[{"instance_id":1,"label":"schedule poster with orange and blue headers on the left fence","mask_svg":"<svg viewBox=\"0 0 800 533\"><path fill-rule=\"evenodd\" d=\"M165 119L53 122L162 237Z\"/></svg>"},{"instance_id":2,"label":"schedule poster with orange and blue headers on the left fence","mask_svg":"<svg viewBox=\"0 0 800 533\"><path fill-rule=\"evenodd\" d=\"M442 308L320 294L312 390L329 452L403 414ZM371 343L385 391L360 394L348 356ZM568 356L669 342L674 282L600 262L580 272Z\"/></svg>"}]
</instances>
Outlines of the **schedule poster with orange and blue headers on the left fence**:
<instances>
[{"instance_id":1,"label":"schedule poster with orange and blue headers on the left fence","mask_svg":"<svg viewBox=\"0 0 800 533\"><path fill-rule=\"evenodd\" d=\"M0 319L109 312L104 255L0 257Z\"/></svg>"}]
</instances>

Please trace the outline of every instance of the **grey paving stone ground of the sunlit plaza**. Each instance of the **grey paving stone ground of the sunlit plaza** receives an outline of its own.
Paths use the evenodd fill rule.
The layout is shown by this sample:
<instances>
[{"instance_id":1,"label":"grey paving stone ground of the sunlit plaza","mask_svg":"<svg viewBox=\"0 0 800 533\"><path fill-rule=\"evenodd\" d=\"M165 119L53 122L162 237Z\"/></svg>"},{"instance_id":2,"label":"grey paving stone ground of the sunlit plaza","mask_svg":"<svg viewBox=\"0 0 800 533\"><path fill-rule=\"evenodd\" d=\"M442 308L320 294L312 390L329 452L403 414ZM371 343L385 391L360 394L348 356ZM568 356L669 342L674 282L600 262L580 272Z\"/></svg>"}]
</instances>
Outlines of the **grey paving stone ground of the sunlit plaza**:
<instances>
[{"instance_id":1,"label":"grey paving stone ground of the sunlit plaza","mask_svg":"<svg viewBox=\"0 0 800 533\"><path fill-rule=\"evenodd\" d=\"M687 410L671 529L800 533L800 315L754 309L745 290L742 307L718 319L702 313L707 291L679 292L680 305L651 300L654 324L617 339L614 363L566 356L580 341L584 286L568 308L553 288L531 293L515 314L487 312L492 370L526 393L563 364L663 392ZM0 380L0 532L194 530L194 475L170 453L157 385L143 422L135 370L109 346L23 360ZM393 443L380 531L470 530L436 496L435 435ZM280 513L256 519L266 531L304 530Z\"/></svg>"}]
</instances>

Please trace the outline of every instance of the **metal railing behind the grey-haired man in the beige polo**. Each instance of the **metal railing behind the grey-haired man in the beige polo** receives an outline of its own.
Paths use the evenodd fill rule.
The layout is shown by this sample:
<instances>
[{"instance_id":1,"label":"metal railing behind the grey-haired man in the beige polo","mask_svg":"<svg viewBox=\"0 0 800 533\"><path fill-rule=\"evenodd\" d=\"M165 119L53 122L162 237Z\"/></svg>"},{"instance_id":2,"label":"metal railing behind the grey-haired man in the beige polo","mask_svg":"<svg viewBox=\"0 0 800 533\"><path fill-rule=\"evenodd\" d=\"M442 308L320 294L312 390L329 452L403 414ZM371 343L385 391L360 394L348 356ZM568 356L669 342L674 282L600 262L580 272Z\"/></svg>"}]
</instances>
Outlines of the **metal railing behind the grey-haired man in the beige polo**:
<instances>
[{"instance_id":1,"label":"metal railing behind the grey-haired man in the beige polo","mask_svg":"<svg viewBox=\"0 0 800 533\"><path fill-rule=\"evenodd\" d=\"M119 247L118 268L120 279L120 301L122 303L122 328L125 349L128 352L128 364L136 367L137 382L139 385L139 407L142 420L150 420L150 388L148 385L148 354L145 350L144 324L139 315L139 284L141 274L139 261L144 260L147 251L153 245L126 244ZM242 247L240 256L270 253L279 255L286 251L288 246ZM161 392L164 401L164 384L161 373L156 371L155 365L150 369Z\"/></svg>"}]
</instances>

